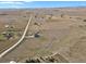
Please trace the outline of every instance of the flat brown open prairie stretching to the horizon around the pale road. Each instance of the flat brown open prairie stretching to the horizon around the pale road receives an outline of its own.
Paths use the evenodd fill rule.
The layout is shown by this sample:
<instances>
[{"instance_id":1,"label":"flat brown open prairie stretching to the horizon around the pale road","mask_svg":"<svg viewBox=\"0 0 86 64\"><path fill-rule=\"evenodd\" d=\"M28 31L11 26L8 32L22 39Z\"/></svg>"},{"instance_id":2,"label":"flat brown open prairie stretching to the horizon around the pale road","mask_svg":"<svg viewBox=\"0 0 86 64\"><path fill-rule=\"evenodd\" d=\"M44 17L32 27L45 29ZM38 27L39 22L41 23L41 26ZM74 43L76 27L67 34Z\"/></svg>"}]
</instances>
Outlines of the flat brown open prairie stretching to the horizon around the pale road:
<instances>
[{"instance_id":1,"label":"flat brown open prairie stretching to the horizon around the pale road","mask_svg":"<svg viewBox=\"0 0 86 64\"><path fill-rule=\"evenodd\" d=\"M0 62L86 62L86 8L0 10L0 53L17 42L33 16L24 40ZM44 61L41 60L45 59Z\"/></svg>"}]
</instances>

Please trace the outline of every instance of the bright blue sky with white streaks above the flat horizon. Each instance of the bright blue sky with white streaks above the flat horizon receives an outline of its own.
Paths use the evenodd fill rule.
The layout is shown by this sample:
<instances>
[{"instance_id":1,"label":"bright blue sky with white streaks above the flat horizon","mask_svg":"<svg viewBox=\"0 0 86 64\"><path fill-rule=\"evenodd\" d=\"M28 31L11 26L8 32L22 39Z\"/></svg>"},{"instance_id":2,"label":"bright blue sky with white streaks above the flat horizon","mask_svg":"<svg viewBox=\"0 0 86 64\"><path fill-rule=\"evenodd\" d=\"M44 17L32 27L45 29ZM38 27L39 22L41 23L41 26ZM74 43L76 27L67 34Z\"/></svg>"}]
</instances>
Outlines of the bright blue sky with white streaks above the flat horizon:
<instances>
[{"instance_id":1,"label":"bright blue sky with white streaks above the flat horizon","mask_svg":"<svg viewBox=\"0 0 86 64\"><path fill-rule=\"evenodd\" d=\"M0 0L0 9L86 7L86 1Z\"/></svg>"}]
</instances>

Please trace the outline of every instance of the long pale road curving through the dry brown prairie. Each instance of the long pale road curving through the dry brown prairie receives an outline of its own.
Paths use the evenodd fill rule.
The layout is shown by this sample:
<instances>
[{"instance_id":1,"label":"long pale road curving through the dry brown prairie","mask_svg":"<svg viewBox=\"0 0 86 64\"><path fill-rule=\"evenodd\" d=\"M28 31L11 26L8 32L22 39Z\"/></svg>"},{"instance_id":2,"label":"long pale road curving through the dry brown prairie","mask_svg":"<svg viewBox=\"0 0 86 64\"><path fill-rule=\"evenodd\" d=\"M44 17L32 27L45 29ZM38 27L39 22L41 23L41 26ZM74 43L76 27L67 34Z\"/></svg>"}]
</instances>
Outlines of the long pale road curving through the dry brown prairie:
<instances>
[{"instance_id":1,"label":"long pale road curving through the dry brown prairie","mask_svg":"<svg viewBox=\"0 0 86 64\"><path fill-rule=\"evenodd\" d=\"M29 17L29 21L28 21L28 23L27 23L27 25L26 25L26 27L25 27L25 30L24 30L24 33L23 33L21 39L20 39L15 44L13 44L11 48L9 48L9 49L5 50L4 52L2 52L2 53L0 54L0 59L1 59L2 56L4 56L7 53L9 53L10 51L12 51L16 46L19 46L19 44L23 41L23 39L25 38L25 35L26 35L26 33L27 33L28 26L29 26L29 24L30 24L30 22L32 22L32 17L33 17L33 16Z\"/></svg>"}]
</instances>

